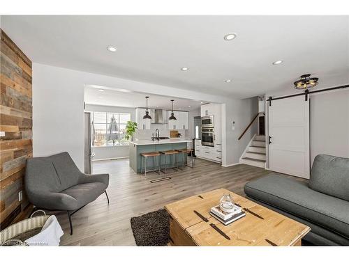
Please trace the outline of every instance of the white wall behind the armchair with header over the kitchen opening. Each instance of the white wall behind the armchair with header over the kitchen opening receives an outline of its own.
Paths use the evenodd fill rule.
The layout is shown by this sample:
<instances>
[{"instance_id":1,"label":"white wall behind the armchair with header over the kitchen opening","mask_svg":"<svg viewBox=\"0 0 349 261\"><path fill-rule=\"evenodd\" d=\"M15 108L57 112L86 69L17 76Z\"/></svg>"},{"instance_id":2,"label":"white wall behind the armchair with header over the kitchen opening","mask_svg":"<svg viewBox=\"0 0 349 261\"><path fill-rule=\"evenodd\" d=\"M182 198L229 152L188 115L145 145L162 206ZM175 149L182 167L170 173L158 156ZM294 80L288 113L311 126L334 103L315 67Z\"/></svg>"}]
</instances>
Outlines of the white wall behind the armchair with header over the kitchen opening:
<instances>
[{"instance_id":1,"label":"white wall behind the armchair with header over the kitchen opening","mask_svg":"<svg viewBox=\"0 0 349 261\"><path fill-rule=\"evenodd\" d=\"M84 85L94 84L224 103L217 95L178 90L101 74L33 63L33 152L34 157L68 151L80 170L84 169Z\"/></svg>"}]
</instances>

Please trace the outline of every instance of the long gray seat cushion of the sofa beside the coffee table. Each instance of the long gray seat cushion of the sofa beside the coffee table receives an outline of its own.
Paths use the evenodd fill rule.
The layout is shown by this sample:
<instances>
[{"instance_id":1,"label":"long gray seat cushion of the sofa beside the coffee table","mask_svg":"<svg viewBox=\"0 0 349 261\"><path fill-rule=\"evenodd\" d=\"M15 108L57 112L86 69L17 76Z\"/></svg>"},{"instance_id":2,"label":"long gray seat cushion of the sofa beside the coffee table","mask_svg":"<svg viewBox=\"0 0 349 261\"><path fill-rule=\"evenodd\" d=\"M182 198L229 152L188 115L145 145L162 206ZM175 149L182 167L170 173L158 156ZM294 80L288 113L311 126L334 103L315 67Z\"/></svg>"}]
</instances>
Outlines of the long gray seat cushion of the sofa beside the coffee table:
<instances>
[{"instance_id":1,"label":"long gray seat cushion of the sofa beside the coffee table","mask_svg":"<svg viewBox=\"0 0 349 261\"><path fill-rule=\"evenodd\" d=\"M248 182L244 191L250 198L349 238L349 202L314 191L306 182L273 174Z\"/></svg>"}]
</instances>

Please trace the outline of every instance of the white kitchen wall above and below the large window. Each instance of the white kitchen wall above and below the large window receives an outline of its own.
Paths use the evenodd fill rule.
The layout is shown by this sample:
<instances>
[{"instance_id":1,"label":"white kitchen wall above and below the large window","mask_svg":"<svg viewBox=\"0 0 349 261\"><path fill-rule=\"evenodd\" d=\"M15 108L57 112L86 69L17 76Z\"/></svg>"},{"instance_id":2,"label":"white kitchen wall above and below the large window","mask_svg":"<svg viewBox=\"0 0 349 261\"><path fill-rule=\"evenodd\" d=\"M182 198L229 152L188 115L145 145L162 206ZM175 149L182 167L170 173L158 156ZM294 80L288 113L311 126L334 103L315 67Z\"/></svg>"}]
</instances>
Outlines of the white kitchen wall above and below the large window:
<instances>
[{"instance_id":1,"label":"white kitchen wall above and below the large window","mask_svg":"<svg viewBox=\"0 0 349 261\"><path fill-rule=\"evenodd\" d=\"M86 104L85 111L107 111L107 112L118 112L118 113L130 113L131 120L135 121L135 108ZM115 158L128 157L129 147L128 145L93 147L92 152L95 153L94 160L115 159Z\"/></svg>"}]
</instances>

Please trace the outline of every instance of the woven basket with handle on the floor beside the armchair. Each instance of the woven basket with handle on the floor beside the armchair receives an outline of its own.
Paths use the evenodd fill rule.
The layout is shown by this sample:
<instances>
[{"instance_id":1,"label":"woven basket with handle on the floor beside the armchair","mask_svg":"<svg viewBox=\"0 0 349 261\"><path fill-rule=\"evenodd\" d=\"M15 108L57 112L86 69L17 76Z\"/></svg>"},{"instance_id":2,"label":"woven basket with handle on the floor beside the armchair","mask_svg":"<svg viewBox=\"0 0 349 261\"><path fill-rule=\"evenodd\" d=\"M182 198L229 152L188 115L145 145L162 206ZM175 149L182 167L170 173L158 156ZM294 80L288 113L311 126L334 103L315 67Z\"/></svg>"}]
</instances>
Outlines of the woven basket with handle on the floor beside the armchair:
<instances>
[{"instance_id":1,"label":"woven basket with handle on the floor beside the armchair","mask_svg":"<svg viewBox=\"0 0 349 261\"><path fill-rule=\"evenodd\" d=\"M37 212L43 212L44 215L33 217ZM24 241L38 234L49 217L43 210L36 210L29 219L24 219L2 230L0 232L0 245L28 246Z\"/></svg>"}]
</instances>

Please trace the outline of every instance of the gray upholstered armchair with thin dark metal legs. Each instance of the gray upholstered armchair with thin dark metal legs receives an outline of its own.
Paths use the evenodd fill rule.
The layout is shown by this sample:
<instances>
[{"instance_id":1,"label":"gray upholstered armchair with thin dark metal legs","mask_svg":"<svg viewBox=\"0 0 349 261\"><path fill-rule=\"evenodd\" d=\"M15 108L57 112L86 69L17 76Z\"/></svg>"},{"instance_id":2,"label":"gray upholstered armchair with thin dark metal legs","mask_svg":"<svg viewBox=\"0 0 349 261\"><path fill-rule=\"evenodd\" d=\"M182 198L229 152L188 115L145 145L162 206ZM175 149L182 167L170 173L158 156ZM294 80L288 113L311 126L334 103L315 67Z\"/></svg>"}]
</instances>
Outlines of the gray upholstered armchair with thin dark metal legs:
<instances>
[{"instance_id":1,"label":"gray upholstered armchair with thin dark metal legs","mask_svg":"<svg viewBox=\"0 0 349 261\"><path fill-rule=\"evenodd\" d=\"M109 174L86 175L79 171L68 152L27 160L25 189L35 209L61 210L71 216L105 193ZM109 198L107 196L107 203Z\"/></svg>"}]
</instances>

